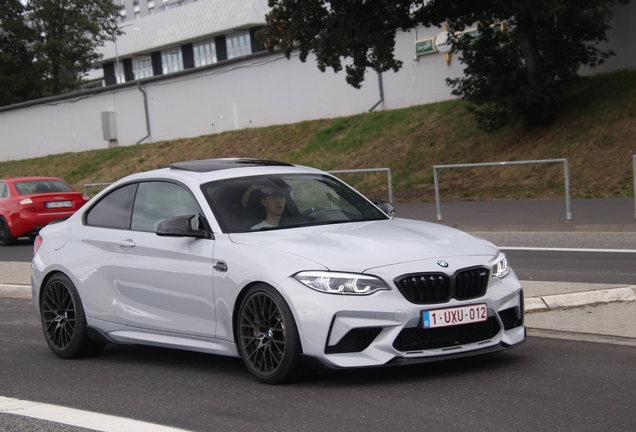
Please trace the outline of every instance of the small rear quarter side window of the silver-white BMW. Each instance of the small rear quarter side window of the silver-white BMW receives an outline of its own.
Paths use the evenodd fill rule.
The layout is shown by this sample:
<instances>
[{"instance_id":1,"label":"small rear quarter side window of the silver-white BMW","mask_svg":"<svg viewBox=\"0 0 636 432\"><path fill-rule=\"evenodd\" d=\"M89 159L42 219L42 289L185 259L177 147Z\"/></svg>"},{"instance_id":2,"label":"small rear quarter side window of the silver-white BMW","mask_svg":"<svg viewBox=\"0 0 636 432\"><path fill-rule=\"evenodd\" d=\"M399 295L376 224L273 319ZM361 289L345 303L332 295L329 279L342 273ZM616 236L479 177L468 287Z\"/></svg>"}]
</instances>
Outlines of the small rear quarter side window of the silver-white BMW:
<instances>
[{"instance_id":1,"label":"small rear quarter side window of the silver-white BMW","mask_svg":"<svg viewBox=\"0 0 636 432\"><path fill-rule=\"evenodd\" d=\"M136 184L116 189L89 210L86 224L104 228L129 229Z\"/></svg>"}]
</instances>

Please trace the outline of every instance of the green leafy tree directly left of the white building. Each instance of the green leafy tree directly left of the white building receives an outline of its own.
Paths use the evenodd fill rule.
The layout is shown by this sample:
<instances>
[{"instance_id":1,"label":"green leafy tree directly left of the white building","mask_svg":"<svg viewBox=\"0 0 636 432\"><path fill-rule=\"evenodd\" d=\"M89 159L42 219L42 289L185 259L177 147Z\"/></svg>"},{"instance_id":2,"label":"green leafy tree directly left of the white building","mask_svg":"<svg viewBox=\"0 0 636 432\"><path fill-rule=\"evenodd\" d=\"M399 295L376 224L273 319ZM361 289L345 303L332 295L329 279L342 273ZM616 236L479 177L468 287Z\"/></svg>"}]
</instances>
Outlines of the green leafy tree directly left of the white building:
<instances>
[{"instance_id":1,"label":"green leafy tree directly left of the white building","mask_svg":"<svg viewBox=\"0 0 636 432\"><path fill-rule=\"evenodd\" d=\"M117 31L119 6L113 0L28 0L29 21L37 37L33 51L45 90L56 95L77 88L98 46Z\"/></svg>"}]
</instances>

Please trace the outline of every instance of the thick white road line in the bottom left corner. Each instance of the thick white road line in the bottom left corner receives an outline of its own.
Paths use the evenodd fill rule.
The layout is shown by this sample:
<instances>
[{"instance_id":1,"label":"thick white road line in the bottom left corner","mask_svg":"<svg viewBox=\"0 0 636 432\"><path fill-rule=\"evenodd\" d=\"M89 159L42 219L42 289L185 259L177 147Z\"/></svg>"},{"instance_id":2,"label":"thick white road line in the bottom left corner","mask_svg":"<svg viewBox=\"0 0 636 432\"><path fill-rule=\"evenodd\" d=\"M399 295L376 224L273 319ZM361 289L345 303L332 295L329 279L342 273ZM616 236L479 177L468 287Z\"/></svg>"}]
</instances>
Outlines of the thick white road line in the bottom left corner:
<instances>
[{"instance_id":1,"label":"thick white road line in the bottom left corner","mask_svg":"<svg viewBox=\"0 0 636 432\"><path fill-rule=\"evenodd\" d=\"M186 432L125 417L0 396L0 412L104 432Z\"/></svg>"}]
</instances>

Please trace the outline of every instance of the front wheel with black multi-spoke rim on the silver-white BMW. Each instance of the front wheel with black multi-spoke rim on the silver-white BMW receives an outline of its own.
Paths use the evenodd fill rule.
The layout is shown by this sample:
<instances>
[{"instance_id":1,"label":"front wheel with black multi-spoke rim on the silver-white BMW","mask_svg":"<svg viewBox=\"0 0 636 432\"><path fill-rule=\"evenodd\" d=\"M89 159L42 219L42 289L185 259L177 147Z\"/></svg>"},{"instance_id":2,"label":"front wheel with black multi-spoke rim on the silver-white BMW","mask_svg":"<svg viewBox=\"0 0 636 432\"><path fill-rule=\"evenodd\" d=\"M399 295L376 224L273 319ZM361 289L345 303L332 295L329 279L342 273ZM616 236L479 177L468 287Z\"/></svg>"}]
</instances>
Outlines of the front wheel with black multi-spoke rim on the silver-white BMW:
<instances>
[{"instance_id":1,"label":"front wheel with black multi-spoke rim on the silver-white BMW","mask_svg":"<svg viewBox=\"0 0 636 432\"><path fill-rule=\"evenodd\" d=\"M239 309L238 346L256 379L280 384L300 372L300 338L285 299L269 285L252 287Z\"/></svg>"}]
</instances>

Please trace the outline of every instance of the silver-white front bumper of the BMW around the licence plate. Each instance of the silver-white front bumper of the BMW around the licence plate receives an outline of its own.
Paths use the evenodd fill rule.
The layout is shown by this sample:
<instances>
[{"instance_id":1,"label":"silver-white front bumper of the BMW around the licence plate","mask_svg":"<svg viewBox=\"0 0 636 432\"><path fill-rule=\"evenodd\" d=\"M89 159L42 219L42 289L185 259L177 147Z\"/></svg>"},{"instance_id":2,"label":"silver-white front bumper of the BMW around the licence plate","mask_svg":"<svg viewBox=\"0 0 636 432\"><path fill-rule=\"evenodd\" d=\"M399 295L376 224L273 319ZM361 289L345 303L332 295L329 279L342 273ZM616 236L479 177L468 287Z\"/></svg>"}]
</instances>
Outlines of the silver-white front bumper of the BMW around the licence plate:
<instances>
[{"instance_id":1,"label":"silver-white front bumper of the BMW around the licence plate","mask_svg":"<svg viewBox=\"0 0 636 432\"><path fill-rule=\"evenodd\" d=\"M279 286L292 308L303 355L328 368L428 362L500 351L525 341L523 292L514 273L493 279L469 301L413 304L393 287L369 296L315 292L287 280ZM424 329L424 310L485 303L488 320Z\"/></svg>"}]
</instances>

